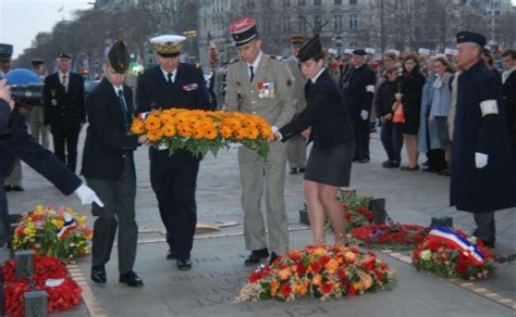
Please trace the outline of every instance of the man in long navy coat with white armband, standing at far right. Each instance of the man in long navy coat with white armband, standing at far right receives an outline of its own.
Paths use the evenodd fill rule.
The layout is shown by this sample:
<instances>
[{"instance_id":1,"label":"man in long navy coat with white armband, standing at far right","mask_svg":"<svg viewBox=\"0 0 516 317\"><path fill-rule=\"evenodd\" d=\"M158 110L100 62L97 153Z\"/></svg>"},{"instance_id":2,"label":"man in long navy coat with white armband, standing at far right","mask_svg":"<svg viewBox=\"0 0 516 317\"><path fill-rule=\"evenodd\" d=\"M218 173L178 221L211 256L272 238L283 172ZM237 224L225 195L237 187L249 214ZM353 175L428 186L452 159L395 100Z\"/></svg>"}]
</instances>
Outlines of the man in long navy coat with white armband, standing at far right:
<instances>
[{"instance_id":1,"label":"man in long navy coat with white armband, standing at far right","mask_svg":"<svg viewBox=\"0 0 516 317\"><path fill-rule=\"evenodd\" d=\"M494 246L494 211L514 206L514 166L504 125L501 83L481 60L486 37L457 34L457 107L451 205L474 214L475 236Z\"/></svg>"}]
</instances>

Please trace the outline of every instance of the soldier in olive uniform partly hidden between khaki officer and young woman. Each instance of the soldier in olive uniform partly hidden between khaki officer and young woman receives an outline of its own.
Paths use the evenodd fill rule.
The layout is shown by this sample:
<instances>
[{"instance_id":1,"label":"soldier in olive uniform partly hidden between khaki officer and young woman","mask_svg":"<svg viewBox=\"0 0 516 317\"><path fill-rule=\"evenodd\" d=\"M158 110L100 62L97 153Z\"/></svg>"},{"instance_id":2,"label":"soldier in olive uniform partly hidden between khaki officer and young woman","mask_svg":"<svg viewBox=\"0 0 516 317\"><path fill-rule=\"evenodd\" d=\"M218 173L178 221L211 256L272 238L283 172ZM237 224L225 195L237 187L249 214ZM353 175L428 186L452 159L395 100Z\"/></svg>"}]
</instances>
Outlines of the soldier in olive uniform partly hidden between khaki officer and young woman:
<instances>
[{"instance_id":1,"label":"soldier in olive uniform partly hidden between khaki officer and young woman","mask_svg":"<svg viewBox=\"0 0 516 317\"><path fill-rule=\"evenodd\" d=\"M296 58L297 51L299 48L307 41L307 37L304 35L294 35L291 37L291 51L292 55L286 59L286 65L294 76L294 84L292 89L294 90L294 96L297 99L296 102L296 114L299 113L306 107L305 100L305 84L306 77L303 76L303 73L299 68L299 60ZM292 137L287 142L287 154L288 154L288 166L291 166L291 174L296 174L297 172L305 172L306 166L306 139L302 136Z\"/></svg>"}]
</instances>

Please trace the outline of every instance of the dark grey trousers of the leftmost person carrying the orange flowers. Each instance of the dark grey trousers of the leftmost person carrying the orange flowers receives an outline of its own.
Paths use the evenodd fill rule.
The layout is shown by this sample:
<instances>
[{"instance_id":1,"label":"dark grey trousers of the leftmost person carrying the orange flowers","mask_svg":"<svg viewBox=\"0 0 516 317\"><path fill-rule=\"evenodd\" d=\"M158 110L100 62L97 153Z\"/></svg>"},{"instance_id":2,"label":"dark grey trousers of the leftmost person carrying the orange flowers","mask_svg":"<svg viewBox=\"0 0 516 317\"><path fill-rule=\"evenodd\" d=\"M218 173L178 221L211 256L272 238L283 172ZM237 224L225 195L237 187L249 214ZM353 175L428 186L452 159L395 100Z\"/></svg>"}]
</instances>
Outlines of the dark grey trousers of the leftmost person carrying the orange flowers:
<instances>
[{"instance_id":1,"label":"dark grey trousers of the leftmost person carrying the orange flowers","mask_svg":"<svg viewBox=\"0 0 516 317\"><path fill-rule=\"evenodd\" d=\"M97 216L94 224L91 266L103 266L111 256L116 227L119 227L119 271L133 270L138 242L138 226L135 220L136 177L134 163L126 157L122 175L116 181L86 178L88 186L105 203L93 205Z\"/></svg>"}]
</instances>

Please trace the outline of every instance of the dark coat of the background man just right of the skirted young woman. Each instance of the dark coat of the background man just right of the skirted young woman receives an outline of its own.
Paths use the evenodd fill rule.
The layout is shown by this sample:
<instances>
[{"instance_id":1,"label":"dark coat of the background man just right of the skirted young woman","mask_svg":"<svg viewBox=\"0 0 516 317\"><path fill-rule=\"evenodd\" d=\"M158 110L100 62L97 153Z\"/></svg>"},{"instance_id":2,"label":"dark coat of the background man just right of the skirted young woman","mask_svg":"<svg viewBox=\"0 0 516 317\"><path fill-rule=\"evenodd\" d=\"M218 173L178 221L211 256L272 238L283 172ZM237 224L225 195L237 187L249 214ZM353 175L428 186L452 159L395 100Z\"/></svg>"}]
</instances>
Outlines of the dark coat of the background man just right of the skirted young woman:
<instances>
[{"instance_id":1,"label":"dark coat of the background man just right of the skirted young woman","mask_svg":"<svg viewBox=\"0 0 516 317\"><path fill-rule=\"evenodd\" d=\"M365 110L368 112L369 116L371 115L376 81L377 75L368 64L364 64L358 68L353 67L344 77L344 99L356 130L369 131L369 119L363 119L360 117L360 112ZM372 86L372 92L366 89L368 86Z\"/></svg>"}]
</instances>

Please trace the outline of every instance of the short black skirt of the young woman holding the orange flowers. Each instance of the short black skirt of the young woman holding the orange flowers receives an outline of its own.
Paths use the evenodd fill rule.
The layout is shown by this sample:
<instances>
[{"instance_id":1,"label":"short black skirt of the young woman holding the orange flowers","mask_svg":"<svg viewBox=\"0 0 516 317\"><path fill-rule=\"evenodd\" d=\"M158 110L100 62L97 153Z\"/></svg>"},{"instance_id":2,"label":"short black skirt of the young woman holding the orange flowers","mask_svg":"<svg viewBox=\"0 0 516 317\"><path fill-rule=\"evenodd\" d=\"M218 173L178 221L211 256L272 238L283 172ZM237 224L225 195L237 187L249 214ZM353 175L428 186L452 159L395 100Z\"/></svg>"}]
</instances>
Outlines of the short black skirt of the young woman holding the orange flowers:
<instances>
[{"instance_id":1,"label":"short black skirt of the young woman holding the orange flowers","mask_svg":"<svg viewBox=\"0 0 516 317\"><path fill-rule=\"evenodd\" d=\"M319 183L347 187L352 173L352 161L355 155L353 143L341 143L331 149L312 148L305 179Z\"/></svg>"}]
</instances>

